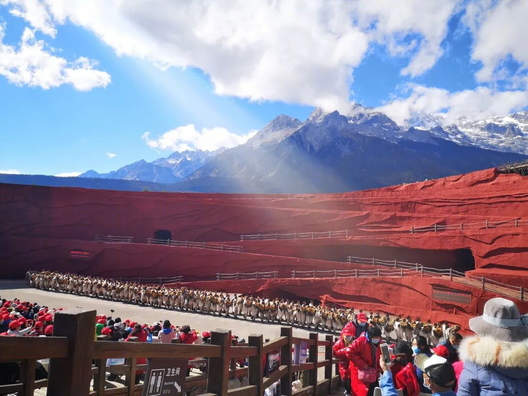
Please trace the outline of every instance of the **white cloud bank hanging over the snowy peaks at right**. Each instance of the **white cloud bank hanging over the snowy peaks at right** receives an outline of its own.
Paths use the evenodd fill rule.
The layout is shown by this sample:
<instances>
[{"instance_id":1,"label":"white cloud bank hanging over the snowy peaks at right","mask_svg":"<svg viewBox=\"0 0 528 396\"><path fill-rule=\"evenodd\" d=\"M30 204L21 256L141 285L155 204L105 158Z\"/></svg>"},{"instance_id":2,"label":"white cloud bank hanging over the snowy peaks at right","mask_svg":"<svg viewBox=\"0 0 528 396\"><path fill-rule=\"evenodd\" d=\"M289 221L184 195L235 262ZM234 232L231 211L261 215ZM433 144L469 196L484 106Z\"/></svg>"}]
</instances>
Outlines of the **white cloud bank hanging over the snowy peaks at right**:
<instances>
[{"instance_id":1,"label":"white cloud bank hanging over the snowy peaks at right","mask_svg":"<svg viewBox=\"0 0 528 396\"><path fill-rule=\"evenodd\" d=\"M522 110L528 104L528 92L522 90L497 91L488 87L449 92L435 87L410 84L408 95L392 100L376 111L382 111L399 125L406 125L413 111L441 112L445 123L460 117L470 120L493 115L506 115Z\"/></svg>"}]
</instances>

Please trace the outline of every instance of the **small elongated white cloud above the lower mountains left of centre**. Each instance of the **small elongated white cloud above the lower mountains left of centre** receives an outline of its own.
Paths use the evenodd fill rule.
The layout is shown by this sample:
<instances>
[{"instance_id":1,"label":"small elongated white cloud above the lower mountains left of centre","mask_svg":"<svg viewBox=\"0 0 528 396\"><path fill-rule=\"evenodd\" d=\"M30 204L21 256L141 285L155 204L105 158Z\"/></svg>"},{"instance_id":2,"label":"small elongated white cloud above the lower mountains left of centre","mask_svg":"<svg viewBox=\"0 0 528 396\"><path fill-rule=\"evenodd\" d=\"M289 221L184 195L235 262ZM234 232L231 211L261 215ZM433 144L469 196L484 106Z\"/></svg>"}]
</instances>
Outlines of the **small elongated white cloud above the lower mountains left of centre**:
<instances>
[{"instance_id":1,"label":"small elongated white cloud above the lower mountains left of centre","mask_svg":"<svg viewBox=\"0 0 528 396\"><path fill-rule=\"evenodd\" d=\"M197 149L212 151L220 147L234 147L246 143L256 133L256 130L252 130L246 135L237 135L220 127L196 130L194 125L189 124L168 130L155 139L151 139L150 133L145 132L142 139L149 147L155 149L171 149L180 152Z\"/></svg>"}]
</instances>

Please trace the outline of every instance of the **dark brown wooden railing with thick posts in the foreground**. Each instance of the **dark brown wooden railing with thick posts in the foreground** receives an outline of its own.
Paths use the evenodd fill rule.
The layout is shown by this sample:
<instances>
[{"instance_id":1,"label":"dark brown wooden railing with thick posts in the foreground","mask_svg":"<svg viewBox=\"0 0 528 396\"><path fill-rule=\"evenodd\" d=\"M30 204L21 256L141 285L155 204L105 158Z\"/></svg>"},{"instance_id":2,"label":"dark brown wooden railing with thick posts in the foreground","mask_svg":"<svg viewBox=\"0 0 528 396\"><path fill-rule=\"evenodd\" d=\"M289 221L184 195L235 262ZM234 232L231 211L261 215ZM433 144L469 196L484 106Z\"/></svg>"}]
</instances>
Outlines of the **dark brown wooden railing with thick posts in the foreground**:
<instances>
[{"instance_id":1,"label":"dark brown wooden railing with thick posts in the foreground","mask_svg":"<svg viewBox=\"0 0 528 396\"><path fill-rule=\"evenodd\" d=\"M21 363L20 382L1 385L0 393L33 396L34 389L47 387L48 395L140 395L144 385L135 384L135 374L147 370L148 364L138 364L139 357L190 360L200 356L200 360L189 363L207 362L207 374L188 376L185 383L206 381L207 396L262 396L277 381L281 395L319 396L331 394L340 385L331 335L323 341L317 333L310 333L304 339L293 337L291 327L281 327L276 340L263 342L261 334L253 334L244 345L231 345L231 331L220 329L211 332L210 345L101 341L104 336L94 341L95 316L93 310L64 310L55 314L53 337L0 337L0 362ZM308 363L294 365L292 346L303 341L308 345ZM318 359L319 347L324 348L323 360ZM266 354L276 351L280 352L280 365L264 376ZM107 359L113 358L125 359L125 364L107 367ZM247 369L235 369L234 361L240 358L248 359ZM35 364L39 359L50 359L48 379L35 381ZM325 367L324 379L318 381L320 367ZM109 388L106 372L116 369L125 375L124 386ZM292 393L293 373L304 370L308 386ZM248 385L228 390L229 378L237 371L247 375Z\"/></svg>"}]
</instances>

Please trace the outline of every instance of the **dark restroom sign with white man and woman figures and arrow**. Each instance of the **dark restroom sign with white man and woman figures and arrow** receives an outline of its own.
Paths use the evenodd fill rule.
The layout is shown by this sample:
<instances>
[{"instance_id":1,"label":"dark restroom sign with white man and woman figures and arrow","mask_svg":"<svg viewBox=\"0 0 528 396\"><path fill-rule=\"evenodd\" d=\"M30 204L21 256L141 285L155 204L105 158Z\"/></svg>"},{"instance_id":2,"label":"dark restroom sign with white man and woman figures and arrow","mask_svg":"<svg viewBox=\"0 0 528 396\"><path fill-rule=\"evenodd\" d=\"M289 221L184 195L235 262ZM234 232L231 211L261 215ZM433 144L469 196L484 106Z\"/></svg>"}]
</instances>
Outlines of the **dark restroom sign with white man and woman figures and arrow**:
<instances>
[{"instance_id":1,"label":"dark restroom sign with white man and woman figures and arrow","mask_svg":"<svg viewBox=\"0 0 528 396\"><path fill-rule=\"evenodd\" d=\"M142 396L177 396L183 393L186 359L151 359L148 363Z\"/></svg>"}]
</instances>

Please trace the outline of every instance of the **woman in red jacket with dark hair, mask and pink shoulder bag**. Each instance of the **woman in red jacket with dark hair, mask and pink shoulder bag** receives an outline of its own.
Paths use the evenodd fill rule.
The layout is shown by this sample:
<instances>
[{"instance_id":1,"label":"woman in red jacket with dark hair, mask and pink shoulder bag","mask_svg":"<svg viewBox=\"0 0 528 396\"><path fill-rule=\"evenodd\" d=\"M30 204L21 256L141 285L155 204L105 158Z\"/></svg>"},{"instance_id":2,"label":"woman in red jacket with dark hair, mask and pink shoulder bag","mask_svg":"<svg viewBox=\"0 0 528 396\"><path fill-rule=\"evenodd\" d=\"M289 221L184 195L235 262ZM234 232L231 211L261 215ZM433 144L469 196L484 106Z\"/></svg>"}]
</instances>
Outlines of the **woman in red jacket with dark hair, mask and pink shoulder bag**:
<instances>
[{"instance_id":1,"label":"woman in red jacket with dark hair, mask and pink shoulder bag","mask_svg":"<svg viewBox=\"0 0 528 396\"><path fill-rule=\"evenodd\" d=\"M350 345L335 353L338 359L346 357L349 360L351 388L356 396L372 396L374 389L378 386L381 356L380 340L380 328L370 326ZM360 376L366 378L360 379Z\"/></svg>"}]
</instances>

